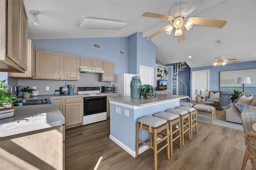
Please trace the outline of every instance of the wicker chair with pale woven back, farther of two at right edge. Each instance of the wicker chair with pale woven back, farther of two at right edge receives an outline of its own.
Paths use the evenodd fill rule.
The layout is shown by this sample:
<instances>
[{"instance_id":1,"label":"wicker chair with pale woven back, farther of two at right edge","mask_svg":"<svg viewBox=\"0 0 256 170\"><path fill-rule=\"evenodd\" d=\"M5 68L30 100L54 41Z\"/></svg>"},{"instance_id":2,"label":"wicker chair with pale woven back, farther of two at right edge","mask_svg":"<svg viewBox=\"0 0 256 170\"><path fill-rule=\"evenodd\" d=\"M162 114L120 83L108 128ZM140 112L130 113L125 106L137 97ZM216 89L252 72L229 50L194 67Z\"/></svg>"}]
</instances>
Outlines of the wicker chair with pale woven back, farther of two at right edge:
<instances>
[{"instance_id":1,"label":"wicker chair with pale woven back, farther of two at right edge","mask_svg":"<svg viewBox=\"0 0 256 170\"><path fill-rule=\"evenodd\" d=\"M256 111L252 111L252 110L242 111L240 114L240 117L241 117L242 125L244 128L244 133L253 132L252 125L256 123ZM244 170L248 159L250 159L250 156L248 154L248 149L246 148L241 170Z\"/></svg>"}]
</instances>

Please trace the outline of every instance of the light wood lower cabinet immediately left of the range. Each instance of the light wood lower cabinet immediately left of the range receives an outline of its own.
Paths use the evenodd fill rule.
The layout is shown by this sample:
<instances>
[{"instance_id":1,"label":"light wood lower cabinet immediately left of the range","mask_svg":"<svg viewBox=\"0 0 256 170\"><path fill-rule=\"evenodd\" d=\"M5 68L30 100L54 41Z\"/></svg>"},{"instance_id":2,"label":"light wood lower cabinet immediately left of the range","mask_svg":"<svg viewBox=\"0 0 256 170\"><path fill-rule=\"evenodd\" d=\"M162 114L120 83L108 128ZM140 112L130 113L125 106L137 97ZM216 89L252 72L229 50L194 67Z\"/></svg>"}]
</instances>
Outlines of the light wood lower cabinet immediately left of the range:
<instances>
[{"instance_id":1,"label":"light wood lower cabinet immediately left of the range","mask_svg":"<svg viewBox=\"0 0 256 170\"><path fill-rule=\"evenodd\" d=\"M53 101L66 119L66 128L82 125L82 96L58 98Z\"/></svg>"}]
</instances>

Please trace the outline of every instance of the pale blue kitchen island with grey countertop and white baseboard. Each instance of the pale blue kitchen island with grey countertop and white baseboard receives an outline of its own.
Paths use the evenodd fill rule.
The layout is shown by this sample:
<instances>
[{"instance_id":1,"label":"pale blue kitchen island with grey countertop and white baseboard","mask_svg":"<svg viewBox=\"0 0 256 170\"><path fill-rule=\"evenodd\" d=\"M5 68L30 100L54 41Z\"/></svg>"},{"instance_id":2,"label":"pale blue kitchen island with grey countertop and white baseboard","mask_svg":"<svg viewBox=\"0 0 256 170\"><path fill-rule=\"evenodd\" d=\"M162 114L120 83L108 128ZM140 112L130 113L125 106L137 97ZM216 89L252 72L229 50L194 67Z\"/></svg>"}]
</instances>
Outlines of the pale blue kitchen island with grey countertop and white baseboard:
<instances>
[{"instance_id":1,"label":"pale blue kitchen island with grey countertop and white baseboard","mask_svg":"<svg viewBox=\"0 0 256 170\"><path fill-rule=\"evenodd\" d=\"M188 96L161 95L154 99L132 99L129 97L110 98L110 139L134 158L136 156L136 123L141 117L180 106L180 99ZM148 132L140 129L140 139L146 140ZM148 146L139 148L139 154Z\"/></svg>"}]
</instances>

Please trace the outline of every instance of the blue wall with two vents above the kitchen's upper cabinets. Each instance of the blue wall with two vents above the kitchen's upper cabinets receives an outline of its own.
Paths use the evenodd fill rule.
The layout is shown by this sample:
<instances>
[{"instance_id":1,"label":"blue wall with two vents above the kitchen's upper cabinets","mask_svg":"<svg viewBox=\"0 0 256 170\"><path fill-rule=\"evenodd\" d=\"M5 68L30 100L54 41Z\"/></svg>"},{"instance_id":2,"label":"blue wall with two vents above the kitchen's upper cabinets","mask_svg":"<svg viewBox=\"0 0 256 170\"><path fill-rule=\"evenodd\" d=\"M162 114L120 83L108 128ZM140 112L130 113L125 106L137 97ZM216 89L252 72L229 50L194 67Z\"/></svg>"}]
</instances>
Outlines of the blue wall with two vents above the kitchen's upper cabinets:
<instances>
[{"instance_id":1,"label":"blue wall with two vents above the kitchen's upper cabinets","mask_svg":"<svg viewBox=\"0 0 256 170\"><path fill-rule=\"evenodd\" d=\"M32 42L35 49L114 62L115 74L128 71L128 37L38 39ZM100 44L101 49L93 48L92 43ZM125 51L125 55L120 55L119 50Z\"/></svg>"}]
</instances>

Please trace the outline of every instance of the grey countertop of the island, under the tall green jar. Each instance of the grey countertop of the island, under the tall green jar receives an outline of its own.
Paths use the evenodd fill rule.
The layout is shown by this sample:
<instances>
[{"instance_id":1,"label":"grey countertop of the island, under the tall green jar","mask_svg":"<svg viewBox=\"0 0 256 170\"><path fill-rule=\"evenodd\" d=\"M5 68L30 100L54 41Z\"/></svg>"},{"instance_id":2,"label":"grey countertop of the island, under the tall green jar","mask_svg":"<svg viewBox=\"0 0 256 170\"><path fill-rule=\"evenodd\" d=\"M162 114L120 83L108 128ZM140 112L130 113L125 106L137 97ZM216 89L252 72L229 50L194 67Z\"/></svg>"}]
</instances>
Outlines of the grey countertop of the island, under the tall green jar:
<instances>
[{"instance_id":1,"label":"grey countertop of the island, under the tall green jar","mask_svg":"<svg viewBox=\"0 0 256 170\"><path fill-rule=\"evenodd\" d=\"M109 100L110 100L110 103L113 101L118 103L124 103L127 105L145 107L145 106L156 105L159 103L176 101L176 100L186 99L186 98L188 98L188 96L157 94L157 96L153 99L143 99L143 98L135 99L135 98L131 98L130 96L126 96L126 97L114 97L114 98L110 98Z\"/></svg>"}]
</instances>

